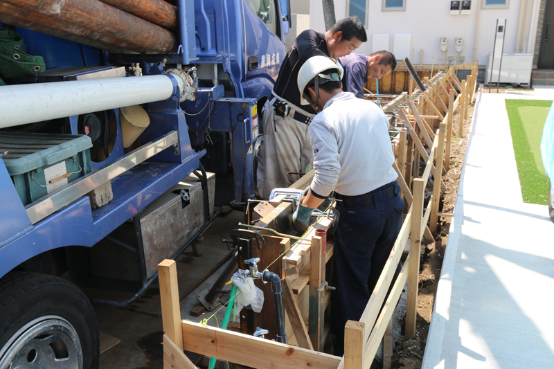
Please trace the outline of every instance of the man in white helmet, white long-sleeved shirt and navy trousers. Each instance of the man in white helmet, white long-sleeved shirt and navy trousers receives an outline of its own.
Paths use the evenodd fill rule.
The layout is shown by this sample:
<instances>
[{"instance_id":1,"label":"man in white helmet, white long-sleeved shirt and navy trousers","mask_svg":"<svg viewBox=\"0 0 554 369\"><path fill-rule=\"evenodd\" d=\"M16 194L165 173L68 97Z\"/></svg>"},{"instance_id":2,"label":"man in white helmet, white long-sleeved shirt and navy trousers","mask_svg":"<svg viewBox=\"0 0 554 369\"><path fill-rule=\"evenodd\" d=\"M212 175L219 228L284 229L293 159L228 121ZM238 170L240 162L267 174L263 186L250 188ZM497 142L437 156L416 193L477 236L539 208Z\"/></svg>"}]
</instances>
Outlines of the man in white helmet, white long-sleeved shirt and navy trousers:
<instances>
[{"instance_id":1,"label":"man in white helmet, white long-sleeved shirt and navy trousers","mask_svg":"<svg viewBox=\"0 0 554 369\"><path fill-rule=\"evenodd\" d=\"M314 179L293 220L310 214L331 192L339 224L334 244L331 316L334 354L343 355L346 321L359 321L402 227L388 121L373 102L341 89L339 68L311 57L298 72L301 104L319 113L310 124Z\"/></svg>"}]
</instances>

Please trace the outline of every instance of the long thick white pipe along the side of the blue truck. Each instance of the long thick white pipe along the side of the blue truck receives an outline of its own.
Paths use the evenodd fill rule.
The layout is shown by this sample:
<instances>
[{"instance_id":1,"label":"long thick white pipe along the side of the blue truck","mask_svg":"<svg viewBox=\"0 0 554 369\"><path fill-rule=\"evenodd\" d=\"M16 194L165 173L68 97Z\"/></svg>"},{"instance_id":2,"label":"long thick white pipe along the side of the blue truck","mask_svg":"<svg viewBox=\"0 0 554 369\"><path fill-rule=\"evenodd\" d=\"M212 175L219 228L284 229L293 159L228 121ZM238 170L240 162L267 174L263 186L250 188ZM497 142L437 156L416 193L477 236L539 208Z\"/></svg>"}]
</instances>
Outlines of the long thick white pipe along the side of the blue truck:
<instances>
[{"instance_id":1,"label":"long thick white pipe along the side of the blue truck","mask_svg":"<svg viewBox=\"0 0 554 369\"><path fill-rule=\"evenodd\" d=\"M167 100L168 75L104 78L0 87L0 128Z\"/></svg>"}]
</instances>

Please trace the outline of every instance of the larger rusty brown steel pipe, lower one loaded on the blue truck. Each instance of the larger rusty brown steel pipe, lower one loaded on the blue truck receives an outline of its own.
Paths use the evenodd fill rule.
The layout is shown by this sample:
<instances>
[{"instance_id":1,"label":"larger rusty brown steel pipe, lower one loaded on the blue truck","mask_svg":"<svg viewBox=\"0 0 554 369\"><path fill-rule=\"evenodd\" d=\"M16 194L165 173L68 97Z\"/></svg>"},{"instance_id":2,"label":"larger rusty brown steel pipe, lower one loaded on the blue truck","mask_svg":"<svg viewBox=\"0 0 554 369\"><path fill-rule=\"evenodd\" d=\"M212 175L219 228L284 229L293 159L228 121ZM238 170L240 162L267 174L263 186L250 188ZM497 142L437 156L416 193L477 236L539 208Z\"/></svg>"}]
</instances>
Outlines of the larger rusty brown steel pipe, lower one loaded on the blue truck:
<instances>
[{"instance_id":1,"label":"larger rusty brown steel pipe, lower one loaded on the blue truck","mask_svg":"<svg viewBox=\"0 0 554 369\"><path fill-rule=\"evenodd\" d=\"M10 8L12 17L19 17L28 21L28 24L41 26L38 29L29 28L38 32L48 33L45 30L57 29L84 37L84 41L87 42L82 44L95 46L92 45L93 42L100 42L137 53L177 52L177 38L170 30L98 0L2 1L5 3L4 8L9 8L6 5L12 6ZM14 12L15 15L13 15ZM5 21L3 17L3 12L0 12L0 21ZM11 24L26 27L13 21Z\"/></svg>"}]
</instances>

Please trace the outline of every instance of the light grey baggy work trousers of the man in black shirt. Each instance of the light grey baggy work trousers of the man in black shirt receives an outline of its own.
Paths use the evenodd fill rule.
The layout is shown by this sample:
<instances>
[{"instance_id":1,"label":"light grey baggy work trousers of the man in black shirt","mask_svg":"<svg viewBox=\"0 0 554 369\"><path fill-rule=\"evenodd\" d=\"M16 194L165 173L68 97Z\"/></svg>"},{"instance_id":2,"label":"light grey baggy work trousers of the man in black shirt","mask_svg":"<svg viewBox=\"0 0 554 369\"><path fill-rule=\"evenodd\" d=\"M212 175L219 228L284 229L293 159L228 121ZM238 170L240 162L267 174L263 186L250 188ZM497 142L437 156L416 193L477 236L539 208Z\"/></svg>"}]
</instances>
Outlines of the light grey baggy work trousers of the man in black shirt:
<instances>
[{"instance_id":1,"label":"light grey baggy work trousers of the man in black shirt","mask_svg":"<svg viewBox=\"0 0 554 369\"><path fill-rule=\"evenodd\" d=\"M287 188L301 177L287 172L305 172L314 160L308 125L289 116L274 114L267 100L264 107L263 127L265 141L260 147L256 188L262 199L269 199L274 188Z\"/></svg>"}]
</instances>

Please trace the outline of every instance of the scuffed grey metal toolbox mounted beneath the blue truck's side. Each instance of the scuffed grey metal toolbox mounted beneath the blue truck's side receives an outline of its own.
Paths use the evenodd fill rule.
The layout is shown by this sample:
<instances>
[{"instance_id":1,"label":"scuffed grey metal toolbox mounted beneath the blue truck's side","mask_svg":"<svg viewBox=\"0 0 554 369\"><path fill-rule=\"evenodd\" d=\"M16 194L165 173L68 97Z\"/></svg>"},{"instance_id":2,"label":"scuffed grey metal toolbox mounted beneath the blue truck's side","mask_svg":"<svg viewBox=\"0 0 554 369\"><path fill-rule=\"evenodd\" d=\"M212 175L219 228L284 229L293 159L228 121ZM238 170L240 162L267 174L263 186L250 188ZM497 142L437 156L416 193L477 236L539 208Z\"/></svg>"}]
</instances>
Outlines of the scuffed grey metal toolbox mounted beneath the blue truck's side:
<instances>
[{"instance_id":1,"label":"scuffed grey metal toolbox mounted beneath the blue truck's side","mask_svg":"<svg viewBox=\"0 0 554 369\"><path fill-rule=\"evenodd\" d=\"M210 215L213 215L215 174L207 174ZM182 197L181 190L184 190ZM152 201L141 213L146 278L152 277L159 262L171 258L204 222L202 183L194 174Z\"/></svg>"}]
</instances>

